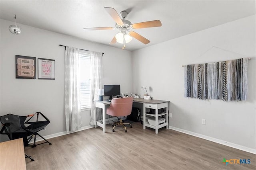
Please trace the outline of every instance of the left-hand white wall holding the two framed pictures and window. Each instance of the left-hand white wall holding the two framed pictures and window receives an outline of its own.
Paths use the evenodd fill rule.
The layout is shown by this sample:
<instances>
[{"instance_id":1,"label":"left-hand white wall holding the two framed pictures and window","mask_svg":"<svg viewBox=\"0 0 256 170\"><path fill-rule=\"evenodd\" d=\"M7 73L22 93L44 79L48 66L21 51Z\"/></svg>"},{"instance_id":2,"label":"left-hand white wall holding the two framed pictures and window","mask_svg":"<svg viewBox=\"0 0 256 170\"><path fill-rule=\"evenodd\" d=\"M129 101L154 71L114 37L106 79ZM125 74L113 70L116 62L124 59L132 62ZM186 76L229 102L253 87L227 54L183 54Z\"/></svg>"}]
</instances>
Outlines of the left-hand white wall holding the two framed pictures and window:
<instances>
[{"instance_id":1,"label":"left-hand white wall holding the two framed pictures and window","mask_svg":"<svg viewBox=\"0 0 256 170\"><path fill-rule=\"evenodd\" d=\"M41 135L66 131L64 114L64 47L103 52L104 84L120 84L121 92L132 90L132 53L107 45L17 23L20 35L12 35L13 22L0 20L0 115L28 115L41 111L51 123ZM55 80L16 79L15 55L55 60ZM37 74L37 70L36 70ZM37 77L38 75L36 75ZM90 111L82 112L82 125L88 126ZM0 135L1 139L2 135ZM3 137L2 137L3 138ZM2 139L4 140L4 139Z\"/></svg>"}]
</instances>

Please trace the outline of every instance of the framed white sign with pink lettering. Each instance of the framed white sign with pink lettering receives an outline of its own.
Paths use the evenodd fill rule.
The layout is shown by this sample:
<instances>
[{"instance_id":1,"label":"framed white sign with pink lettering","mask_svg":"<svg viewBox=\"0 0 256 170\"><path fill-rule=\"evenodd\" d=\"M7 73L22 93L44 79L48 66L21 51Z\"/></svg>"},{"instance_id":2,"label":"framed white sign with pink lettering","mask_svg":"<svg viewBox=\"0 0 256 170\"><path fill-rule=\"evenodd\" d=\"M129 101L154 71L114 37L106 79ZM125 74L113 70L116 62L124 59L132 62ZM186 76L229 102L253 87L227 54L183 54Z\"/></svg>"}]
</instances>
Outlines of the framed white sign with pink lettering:
<instances>
[{"instance_id":1,"label":"framed white sign with pink lettering","mask_svg":"<svg viewBox=\"0 0 256 170\"><path fill-rule=\"evenodd\" d=\"M55 60L38 58L38 79L55 80Z\"/></svg>"}]
</instances>

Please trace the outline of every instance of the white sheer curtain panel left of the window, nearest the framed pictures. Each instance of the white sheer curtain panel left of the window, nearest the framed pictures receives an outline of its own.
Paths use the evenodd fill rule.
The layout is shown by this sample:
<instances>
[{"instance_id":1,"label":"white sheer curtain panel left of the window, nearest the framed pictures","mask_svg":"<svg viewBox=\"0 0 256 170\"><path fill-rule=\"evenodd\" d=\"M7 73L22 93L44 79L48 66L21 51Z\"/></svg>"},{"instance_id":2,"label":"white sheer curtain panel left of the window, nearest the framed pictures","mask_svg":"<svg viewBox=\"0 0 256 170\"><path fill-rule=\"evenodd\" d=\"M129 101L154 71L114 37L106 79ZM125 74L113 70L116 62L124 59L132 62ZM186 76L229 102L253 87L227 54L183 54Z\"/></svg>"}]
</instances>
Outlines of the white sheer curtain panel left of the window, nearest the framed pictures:
<instances>
[{"instance_id":1,"label":"white sheer curtain panel left of the window, nearest the framed pictures","mask_svg":"<svg viewBox=\"0 0 256 170\"><path fill-rule=\"evenodd\" d=\"M67 46L65 52L65 115L67 132L76 131L82 125L79 79L79 49Z\"/></svg>"}]
</instances>

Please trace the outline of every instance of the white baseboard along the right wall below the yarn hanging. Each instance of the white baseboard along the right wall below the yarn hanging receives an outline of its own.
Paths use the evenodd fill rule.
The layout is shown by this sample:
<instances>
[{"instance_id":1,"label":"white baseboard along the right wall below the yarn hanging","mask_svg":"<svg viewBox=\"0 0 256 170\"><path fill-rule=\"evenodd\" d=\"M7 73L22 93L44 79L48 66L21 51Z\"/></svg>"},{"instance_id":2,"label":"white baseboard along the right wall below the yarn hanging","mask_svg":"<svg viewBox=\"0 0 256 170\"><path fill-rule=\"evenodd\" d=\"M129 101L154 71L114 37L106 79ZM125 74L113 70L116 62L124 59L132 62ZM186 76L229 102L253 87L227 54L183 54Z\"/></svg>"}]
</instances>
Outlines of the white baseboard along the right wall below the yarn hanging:
<instances>
[{"instance_id":1,"label":"white baseboard along the right wall below the yarn hanging","mask_svg":"<svg viewBox=\"0 0 256 170\"><path fill-rule=\"evenodd\" d=\"M182 132L182 133L186 133L188 135L199 137L199 138L202 138L202 139L205 139L205 140L208 140L208 141L212 141L212 142L215 142L215 143L219 143L219 144L222 144L222 145L225 145L225 146L228 146L228 147L232 147L232 148L235 148L235 149L250 152L252 154L256 154L256 149L244 147L242 145L237 145L235 143L230 143L230 142L227 142L227 141L222 141L220 139L216 139L216 138L213 138L213 137L208 137L208 136L205 136L205 135L201 135L199 133L194 133L194 132L187 131L187 130L184 130L184 129L180 129L180 128L177 128L177 127L169 126L169 129L172 129L172 130L178 131L178 132Z\"/></svg>"}]
</instances>

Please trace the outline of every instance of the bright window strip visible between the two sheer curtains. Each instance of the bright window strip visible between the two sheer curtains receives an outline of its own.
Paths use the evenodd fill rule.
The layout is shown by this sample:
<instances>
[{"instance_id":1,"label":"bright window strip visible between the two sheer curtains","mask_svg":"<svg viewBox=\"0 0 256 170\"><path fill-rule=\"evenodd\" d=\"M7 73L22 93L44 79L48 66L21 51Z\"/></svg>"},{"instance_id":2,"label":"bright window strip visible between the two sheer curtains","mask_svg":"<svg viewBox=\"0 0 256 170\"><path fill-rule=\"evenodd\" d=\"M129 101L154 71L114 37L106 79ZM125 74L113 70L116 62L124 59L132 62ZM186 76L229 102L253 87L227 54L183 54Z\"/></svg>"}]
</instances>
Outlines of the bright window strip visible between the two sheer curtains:
<instances>
[{"instance_id":1,"label":"bright window strip visible between the two sheer curtains","mask_svg":"<svg viewBox=\"0 0 256 170\"><path fill-rule=\"evenodd\" d=\"M90 52L79 51L80 64L80 106L81 109L90 109Z\"/></svg>"}]
</instances>

